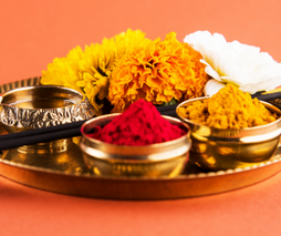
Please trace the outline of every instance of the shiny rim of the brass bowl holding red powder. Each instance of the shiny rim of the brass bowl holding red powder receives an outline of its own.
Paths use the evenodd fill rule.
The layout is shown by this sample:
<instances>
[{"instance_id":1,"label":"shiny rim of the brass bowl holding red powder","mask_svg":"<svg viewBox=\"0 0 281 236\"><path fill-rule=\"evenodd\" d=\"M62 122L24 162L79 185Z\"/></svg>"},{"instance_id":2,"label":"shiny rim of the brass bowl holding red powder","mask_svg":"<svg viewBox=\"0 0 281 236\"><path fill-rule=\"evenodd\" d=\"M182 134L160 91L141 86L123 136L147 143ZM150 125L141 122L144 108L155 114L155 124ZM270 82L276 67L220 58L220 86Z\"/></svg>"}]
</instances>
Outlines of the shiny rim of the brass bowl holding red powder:
<instances>
[{"instance_id":1,"label":"shiny rim of the brass bowl holding red powder","mask_svg":"<svg viewBox=\"0 0 281 236\"><path fill-rule=\"evenodd\" d=\"M188 126L188 124L186 124L185 122L180 121L179 119L176 119L176 117L170 117L170 116L167 116L167 115L162 115L164 119L166 120L170 120L170 121L174 121L174 122L177 122L178 124L181 124L183 126L185 126L187 129L187 132L185 135L176 138L176 140L171 140L171 141L167 141L167 142L163 142L163 143L155 143L155 144L149 144L149 145L139 145L139 146L133 146L133 145L117 145L117 144L111 144L111 143L105 143L103 141L100 141L100 140L96 140L96 138L93 138L93 137L89 137L84 130L87 125L90 125L92 122L94 121L98 121L98 120L104 120L106 117L115 117L115 116L118 116L121 115L121 113L113 113L113 114L105 114L105 115L100 115L100 116L96 116L96 117L93 117L93 119L90 119L87 120L86 122L84 122L81 126L81 135L82 137L84 137L85 140L90 141L90 142L93 142L95 144L100 144L100 145L105 145L105 146L108 146L108 147L122 147L122 148L127 148L127 150L136 150L136 148L159 148L159 147L163 147L163 146L167 146L167 145L174 145L176 143L178 143L179 141L183 141L185 138L188 138L189 140L189 143L190 143L190 146L191 146L191 141L190 141L190 127Z\"/></svg>"}]
</instances>

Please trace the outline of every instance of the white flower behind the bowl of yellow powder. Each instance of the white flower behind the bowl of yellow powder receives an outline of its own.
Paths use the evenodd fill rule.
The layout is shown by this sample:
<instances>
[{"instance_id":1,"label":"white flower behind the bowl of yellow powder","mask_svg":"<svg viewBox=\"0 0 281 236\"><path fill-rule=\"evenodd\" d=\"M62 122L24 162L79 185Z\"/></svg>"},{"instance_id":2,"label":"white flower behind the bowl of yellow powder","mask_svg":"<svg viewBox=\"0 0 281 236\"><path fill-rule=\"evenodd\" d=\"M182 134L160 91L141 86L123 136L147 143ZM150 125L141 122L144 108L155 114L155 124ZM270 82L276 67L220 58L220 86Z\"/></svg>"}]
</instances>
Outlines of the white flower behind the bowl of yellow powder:
<instances>
[{"instance_id":1,"label":"white flower behind the bowl of yellow powder","mask_svg":"<svg viewBox=\"0 0 281 236\"><path fill-rule=\"evenodd\" d=\"M202 54L206 73L220 83L236 84L251 94L281 85L281 64L269 53L260 52L258 47L238 41L227 42L222 34L211 34L209 31L190 33L184 41ZM215 82L210 80L208 83L206 95L212 95Z\"/></svg>"}]
</instances>

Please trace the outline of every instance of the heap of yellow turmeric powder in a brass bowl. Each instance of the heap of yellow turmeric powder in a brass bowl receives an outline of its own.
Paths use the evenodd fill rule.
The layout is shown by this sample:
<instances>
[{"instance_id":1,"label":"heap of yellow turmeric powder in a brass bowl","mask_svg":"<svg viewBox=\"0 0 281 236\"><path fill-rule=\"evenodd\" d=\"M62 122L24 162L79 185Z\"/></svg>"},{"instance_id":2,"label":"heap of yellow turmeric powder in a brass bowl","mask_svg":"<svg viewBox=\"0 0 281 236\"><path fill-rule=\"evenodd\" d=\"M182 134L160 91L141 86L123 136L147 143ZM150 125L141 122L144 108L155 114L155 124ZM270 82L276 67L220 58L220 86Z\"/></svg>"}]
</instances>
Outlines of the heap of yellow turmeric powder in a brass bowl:
<instances>
[{"instance_id":1,"label":"heap of yellow turmeric powder in a brass bowl","mask_svg":"<svg viewBox=\"0 0 281 236\"><path fill-rule=\"evenodd\" d=\"M243 93L231 84L210 99L179 107L178 112L195 123L217 129L252 127L278 119L278 115L267 110L258 99L252 100L249 93Z\"/></svg>"}]
</instances>

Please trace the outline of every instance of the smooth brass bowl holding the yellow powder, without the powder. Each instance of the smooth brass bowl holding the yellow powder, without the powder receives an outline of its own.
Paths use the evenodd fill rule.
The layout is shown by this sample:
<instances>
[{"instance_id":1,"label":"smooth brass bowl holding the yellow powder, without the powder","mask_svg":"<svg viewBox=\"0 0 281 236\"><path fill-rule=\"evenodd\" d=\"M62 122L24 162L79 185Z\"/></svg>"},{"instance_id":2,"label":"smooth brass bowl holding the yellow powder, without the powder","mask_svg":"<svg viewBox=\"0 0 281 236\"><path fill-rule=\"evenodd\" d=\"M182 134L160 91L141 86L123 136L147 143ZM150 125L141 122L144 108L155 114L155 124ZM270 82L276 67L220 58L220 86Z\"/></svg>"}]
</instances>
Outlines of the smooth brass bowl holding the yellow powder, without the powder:
<instances>
[{"instance_id":1,"label":"smooth brass bowl holding the yellow powder, without the powder","mask_svg":"<svg viewBox=\"0 0 281 236\"><path fill-rule=\"evenodd\" d=\"M188 100L176 109L178 116L191 129L190 162L206 170L233 170L257 165L274 154L281 133L281 117L266 125L222 130L194 123L179 114L179 107L206 99L208 98ZM278 107L267 102L261 103L281 116Z\"/></svg>"}]
</instances>

